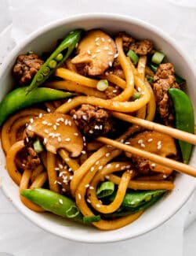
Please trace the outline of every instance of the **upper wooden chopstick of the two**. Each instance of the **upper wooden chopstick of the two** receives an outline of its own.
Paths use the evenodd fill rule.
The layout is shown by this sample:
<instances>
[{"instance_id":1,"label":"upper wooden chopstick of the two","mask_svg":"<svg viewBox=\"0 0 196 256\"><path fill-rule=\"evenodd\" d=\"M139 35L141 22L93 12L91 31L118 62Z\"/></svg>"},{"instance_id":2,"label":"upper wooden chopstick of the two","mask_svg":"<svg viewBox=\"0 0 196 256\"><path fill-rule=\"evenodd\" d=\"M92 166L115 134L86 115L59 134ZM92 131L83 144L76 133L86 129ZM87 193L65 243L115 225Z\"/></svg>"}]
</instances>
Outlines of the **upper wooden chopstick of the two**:
<instances>
[{"instance_id":1,"label":"upper wooden chopstick of the two","mask_svg":"<svg viewBox=\"0 0 196 256\"><path fill-rule=\"evenodd\" d=\"M183 131L177 130L176 128L171 128L169 126L165 126L162 124L156 124L154 122L143 120L138 117L132 117L125 113L112 112L112 115L123 121L127 121L132 124L137 124L149 130L162 132L164 134L170 135L172 138L180 139L187 143L196 145L196 135L191 134L189 132L183 132Z\"/></svg>"}]
</instances>

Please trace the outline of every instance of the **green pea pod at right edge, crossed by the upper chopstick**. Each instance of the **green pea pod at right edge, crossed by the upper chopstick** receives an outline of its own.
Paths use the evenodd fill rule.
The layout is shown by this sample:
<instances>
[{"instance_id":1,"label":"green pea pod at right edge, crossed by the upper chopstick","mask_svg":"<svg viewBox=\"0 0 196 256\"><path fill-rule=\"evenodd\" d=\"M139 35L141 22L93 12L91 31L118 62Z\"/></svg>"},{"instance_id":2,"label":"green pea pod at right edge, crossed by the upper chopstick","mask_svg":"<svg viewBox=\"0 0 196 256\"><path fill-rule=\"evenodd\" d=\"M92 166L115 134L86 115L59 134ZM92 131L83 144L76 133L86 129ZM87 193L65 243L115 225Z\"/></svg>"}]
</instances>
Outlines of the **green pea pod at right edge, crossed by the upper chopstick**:
<instances>
[{"instance_id":1,"label":"green pea pod at right edge, crossed by the upper chopstick","mask_svg":"<svg viewBox=\"0 0 196 256\"><path fill-rule=\"evenodd\" d=\"M194 108L191 99L180 89L171 88L168 92L175 109L176 128L184 132L194 133ZM179 140L179 144L183 162L188 164L193 146L191 143L185 143L181 140Z\"/></svg>"}]
</instances>

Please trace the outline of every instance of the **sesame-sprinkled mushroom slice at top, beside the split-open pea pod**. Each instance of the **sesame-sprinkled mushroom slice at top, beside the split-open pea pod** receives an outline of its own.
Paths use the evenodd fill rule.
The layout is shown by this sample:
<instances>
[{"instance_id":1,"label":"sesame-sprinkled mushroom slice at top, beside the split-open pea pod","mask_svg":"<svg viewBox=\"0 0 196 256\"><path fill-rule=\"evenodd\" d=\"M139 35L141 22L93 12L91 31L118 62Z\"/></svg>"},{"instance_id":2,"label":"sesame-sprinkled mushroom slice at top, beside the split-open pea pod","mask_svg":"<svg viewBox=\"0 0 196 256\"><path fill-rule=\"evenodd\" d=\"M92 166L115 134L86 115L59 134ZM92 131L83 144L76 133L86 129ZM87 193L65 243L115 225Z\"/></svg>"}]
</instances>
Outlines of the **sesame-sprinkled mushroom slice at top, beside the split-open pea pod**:
<instances>
[{"instance_id":1,"label":"sesame-sprinkled mushroom slice at top, beside the split-open pea pod","mask_svg":"<svg viewBox=\"0 0 196 256\"><path fill-rule=\"evenodd\" d=\"M117 47L114 40L101 30L91 30L78 44L73 64L85 64L89 76L102 75L112 65Z\"/></svg>"}]
</instances>

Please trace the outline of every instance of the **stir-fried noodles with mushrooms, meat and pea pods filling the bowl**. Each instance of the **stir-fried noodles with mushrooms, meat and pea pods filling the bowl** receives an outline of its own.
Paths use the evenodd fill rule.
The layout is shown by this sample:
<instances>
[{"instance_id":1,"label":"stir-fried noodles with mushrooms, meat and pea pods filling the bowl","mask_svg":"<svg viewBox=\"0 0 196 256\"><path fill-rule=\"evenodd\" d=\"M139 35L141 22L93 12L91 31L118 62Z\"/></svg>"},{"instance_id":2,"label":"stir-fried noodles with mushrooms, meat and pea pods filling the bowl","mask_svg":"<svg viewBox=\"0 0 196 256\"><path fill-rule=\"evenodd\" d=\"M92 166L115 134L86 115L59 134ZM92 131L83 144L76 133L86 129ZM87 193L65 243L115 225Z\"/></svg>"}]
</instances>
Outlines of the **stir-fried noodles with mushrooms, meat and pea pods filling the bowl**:
<instances>
[{"instance_id":1,"label":"stir-fried noodles with mushrooms, meat and pea pods filling the bowl","mask_svg":"<svg viewBox=\"0 0 196 256\"><path fill-rule=\"evenodd\" d=\"M129 120L194 132L194 114L184 117L176 104L186 81L150 39L76 29L50 53L20 54L13 76L16 87L0 103L1 140L29 209L112 230L173 189L174 169L126 151L191 157L189 143Z\"/></svg>"}]
</instances>

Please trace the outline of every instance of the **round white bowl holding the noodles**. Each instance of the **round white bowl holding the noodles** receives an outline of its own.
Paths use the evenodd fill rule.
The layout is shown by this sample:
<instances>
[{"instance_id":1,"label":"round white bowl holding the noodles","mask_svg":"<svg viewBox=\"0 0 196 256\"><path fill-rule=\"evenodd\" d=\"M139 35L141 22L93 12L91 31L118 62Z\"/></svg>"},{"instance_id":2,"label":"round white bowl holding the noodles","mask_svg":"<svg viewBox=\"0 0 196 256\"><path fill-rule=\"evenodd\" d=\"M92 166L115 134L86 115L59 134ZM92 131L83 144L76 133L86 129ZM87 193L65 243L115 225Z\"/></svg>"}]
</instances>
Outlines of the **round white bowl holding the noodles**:
<instances>
[{"instance_id":1,"label":"round white bowl holding the noodles","mask_svg":"<svg viewBox=\"0 0 196 256\"><path fill-rule=\"evenodd\" d=\"M92 13L69 17L64 20L56 21L53 24L49 24L31 34L23 43L17 46L11 54L9 54L9 57L4 61L1 67L0 100L13 87L13 77L11 72L17 55L26 53L29 50L42 54L44 51L53 49L53 46L56 44L56 39L63 38L67 32L70 32L74 28L103 28L110 33L126 31L137 39L151 39L156 48L163 50L169 61L174 63L176 72L180 74L180 76L186 78L188 92L191 92L190 97L195 109L196 79L194 76L194 69L187 54L183 53L180 46L178 46L169 35L166 35L164 32L150 24L133 19L132 17L124 17L108 13ZM194 149L190 162L191 165L196 165L195 159L196 151ZM23 213L24 216L34 222L34 224L37 224L39 227L52 232L57 236L88 243L120 241L140 236L145 232L151 231L153 228L158 227L172 217L172 215L187 202L187 199L191 196L195 187L194 178L178 174L176 176L174 190L159 200L154 206L147 209L137 221L118 230L101 232L96 228L76 224L67 221L66 219L56 217L50 213L34 213L27 209L27 207L20 202L18 187L14 184L13 180L11 180L5 170L5 156L2 149L0 149L0 161L2 189L20 213Z\"/></svg>"}]
</instances>

